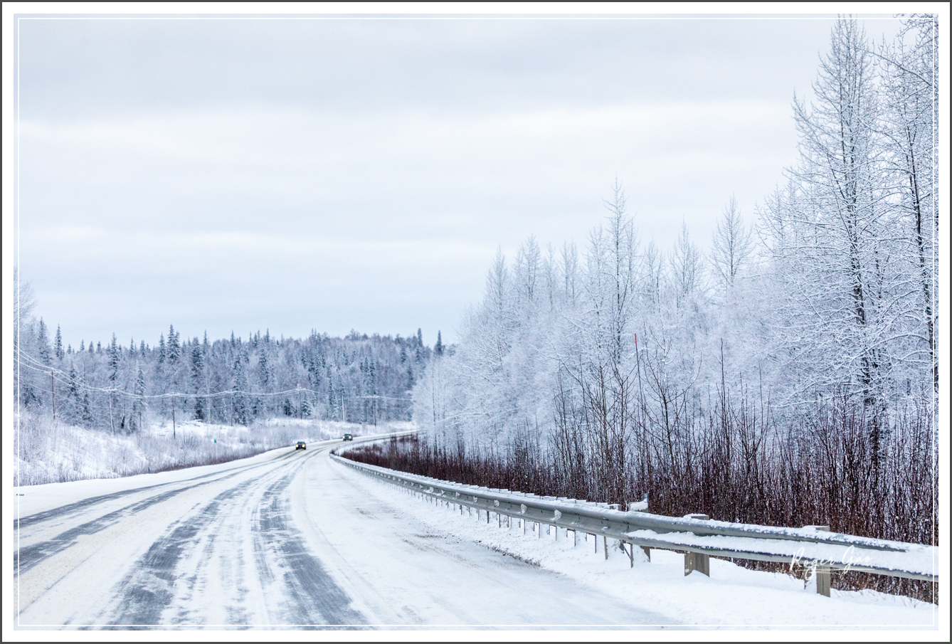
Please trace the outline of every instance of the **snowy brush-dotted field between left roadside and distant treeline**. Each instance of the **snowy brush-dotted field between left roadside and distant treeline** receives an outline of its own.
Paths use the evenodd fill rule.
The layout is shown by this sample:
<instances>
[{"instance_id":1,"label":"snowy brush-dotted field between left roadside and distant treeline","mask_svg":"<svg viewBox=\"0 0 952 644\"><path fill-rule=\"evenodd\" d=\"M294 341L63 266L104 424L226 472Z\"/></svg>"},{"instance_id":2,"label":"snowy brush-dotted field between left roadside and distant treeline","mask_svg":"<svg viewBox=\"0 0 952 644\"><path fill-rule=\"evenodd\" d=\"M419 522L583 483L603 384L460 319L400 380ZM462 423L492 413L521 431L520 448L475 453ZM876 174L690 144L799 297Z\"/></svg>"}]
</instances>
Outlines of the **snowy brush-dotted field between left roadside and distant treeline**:
<instances>
[{"instance_id":1,"label":"snowy brush-dotted field between left roadside and distant treeline","mask_svg":"<svg viewBox=\"0 0 952 644\"><path fill-rule=\"evenodd\" d=\"M141 433L125 434L24 417L14 433L14 485L114 478L221 463L298 440L339 438L346 432L366 435L379 430L354 423L279 417L249 427L188 420L176 423L173 430L166 422Z\"/></svg>"}]
</instances>

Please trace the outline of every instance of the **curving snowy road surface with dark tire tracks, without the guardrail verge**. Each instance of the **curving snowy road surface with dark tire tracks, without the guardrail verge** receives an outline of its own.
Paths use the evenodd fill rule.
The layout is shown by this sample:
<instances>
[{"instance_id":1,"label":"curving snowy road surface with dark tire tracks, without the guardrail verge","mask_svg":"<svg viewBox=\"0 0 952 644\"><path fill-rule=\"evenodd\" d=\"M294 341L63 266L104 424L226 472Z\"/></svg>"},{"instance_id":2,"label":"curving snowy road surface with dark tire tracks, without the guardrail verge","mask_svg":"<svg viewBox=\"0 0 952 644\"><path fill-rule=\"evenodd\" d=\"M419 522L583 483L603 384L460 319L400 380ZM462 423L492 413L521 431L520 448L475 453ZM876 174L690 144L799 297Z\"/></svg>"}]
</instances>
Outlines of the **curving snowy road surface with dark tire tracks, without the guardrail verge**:
<instances>
[{"instance_id":1,"label":"curving snowy road surface with dark tire tracks, without the guardrail verge","mask_svg":"<svg viewBox=\"0 0 952 644\"><path fill-rule=\"evenodd\" d=\"M329 449L21 489L17 627L672 623L433 533Z\"/></svg>"}]
</instances>

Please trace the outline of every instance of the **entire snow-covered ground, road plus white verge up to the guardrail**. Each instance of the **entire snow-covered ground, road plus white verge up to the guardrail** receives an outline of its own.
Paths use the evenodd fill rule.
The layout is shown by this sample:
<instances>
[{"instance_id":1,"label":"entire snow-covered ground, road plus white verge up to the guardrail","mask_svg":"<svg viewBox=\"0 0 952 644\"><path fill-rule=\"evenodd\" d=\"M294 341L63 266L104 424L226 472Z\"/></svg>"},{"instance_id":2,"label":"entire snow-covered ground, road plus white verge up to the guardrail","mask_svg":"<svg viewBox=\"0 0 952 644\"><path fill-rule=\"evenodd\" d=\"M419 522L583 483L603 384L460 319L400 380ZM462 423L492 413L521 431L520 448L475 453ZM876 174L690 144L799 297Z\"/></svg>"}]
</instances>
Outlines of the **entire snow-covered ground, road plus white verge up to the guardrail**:
<instances>
[{"instance_id":1,"label":"entire snow-covered ground, road plus white verge up to the guardrail","mask_svg":"<svg viewBox=\"0 0 952 644\"><path fill-rule=\"evenodd\" d=\"M684 577L682 556L661 551L630 569L601 541L596 553L563 531L487 525L332 461L335 443L16 489L15 627L940 634L937 607L910 599L826 598L721 560Z\"/></svg>"}]
</instances>

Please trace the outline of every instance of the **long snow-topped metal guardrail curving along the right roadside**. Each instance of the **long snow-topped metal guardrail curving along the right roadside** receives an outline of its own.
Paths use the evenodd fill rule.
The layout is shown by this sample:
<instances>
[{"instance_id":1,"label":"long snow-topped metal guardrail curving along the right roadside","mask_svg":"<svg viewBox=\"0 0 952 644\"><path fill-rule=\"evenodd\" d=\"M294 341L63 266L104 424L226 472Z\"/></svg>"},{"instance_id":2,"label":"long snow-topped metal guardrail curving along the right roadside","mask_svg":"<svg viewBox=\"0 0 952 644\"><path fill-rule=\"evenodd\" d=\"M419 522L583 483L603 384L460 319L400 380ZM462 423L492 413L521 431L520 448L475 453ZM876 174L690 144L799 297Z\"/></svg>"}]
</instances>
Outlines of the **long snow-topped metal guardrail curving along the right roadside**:
<instances>
[{"instance_id":1,"label":"long snow-topped metal guardrail curving along the right roadside","mask_svg":"<svg viewBox=\"0 0 952 644\"><path fill-rule=\"evenodd\" d=\"M624 512L607 503L496 490L388 470L341 457L338 453L344 447L332 450L331 457L398 487L459 506L461 512L462 508L485 512L487 522L490 513L495 513L501 525L506 516L572 531L576 540L579 532L602 535L606 558L608 539L618 541L622 550L629 544L625 552L632 565L634 546L642 547L649 556L652 548L684 553L684 574L695 570L709 574L711 555L791 566L799 563L815 571L817 592L827 596L831 569L939 581L939 553L934 546L829 533L824 532L828 531L825 526L778 528L711 521L704 514L679 518Z\"/></svg>"}]
</instances>

